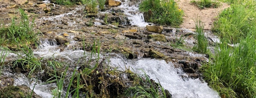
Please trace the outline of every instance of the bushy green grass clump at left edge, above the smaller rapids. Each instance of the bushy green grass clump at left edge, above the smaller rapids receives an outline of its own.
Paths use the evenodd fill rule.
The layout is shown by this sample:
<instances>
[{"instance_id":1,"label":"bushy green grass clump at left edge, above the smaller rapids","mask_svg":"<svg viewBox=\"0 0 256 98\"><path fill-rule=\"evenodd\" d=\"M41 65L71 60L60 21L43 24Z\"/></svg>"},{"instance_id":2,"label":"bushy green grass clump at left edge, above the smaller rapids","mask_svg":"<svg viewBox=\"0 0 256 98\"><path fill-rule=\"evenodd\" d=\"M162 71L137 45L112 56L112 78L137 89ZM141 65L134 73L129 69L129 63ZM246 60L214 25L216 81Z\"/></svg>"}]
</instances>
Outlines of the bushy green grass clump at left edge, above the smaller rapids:
<instances>
[{"instance_id":1,"label":"bushy green grass clump at left edge, above the smaller rapids","mask_svg":"<svg viewBox=\"0 0 256 98\"><path fill-rule=\"evenodd\" d=\"M15 44L16 41L35 44L38 41L37 34L33 31L34 19L30 22L27 14L22 9L19 9L19 12L21 14L20 22L16 22L15 18L12 18L9 27L0 29L0 45Z\"/></svg>"}]
</instances>

